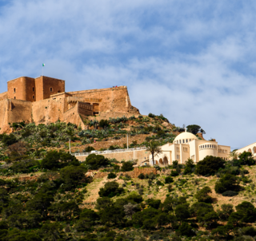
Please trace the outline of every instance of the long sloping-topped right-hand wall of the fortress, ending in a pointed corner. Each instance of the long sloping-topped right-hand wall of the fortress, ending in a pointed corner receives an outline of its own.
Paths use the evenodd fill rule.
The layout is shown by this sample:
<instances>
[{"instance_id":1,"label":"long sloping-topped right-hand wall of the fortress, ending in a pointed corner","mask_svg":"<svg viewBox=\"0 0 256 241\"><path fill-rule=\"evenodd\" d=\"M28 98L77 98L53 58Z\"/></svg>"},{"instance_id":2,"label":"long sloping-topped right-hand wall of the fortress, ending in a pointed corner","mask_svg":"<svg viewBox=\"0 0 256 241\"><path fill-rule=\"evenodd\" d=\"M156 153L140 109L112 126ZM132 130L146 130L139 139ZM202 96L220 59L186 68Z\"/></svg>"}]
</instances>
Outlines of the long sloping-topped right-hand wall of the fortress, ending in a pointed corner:
<instances>
[{"instance_id":1,"label":"long sloping-topped right-hand wall of the fortress, ending in a pointed corner","mask_svg":"<svg viewBox=\"0 0 256 241\"><path fill-rule=\"evenodd\" d=\"M91 89L84 91L70 92L74 97L102 99L99 111L102 112L133 112L130 104L130 97L126 86L108 89ZM86 101L85 101L86 102ZM138 109L134 109L138 113ZM137 111L136 111L137 110Z\"/></svg>"}]
</instances>

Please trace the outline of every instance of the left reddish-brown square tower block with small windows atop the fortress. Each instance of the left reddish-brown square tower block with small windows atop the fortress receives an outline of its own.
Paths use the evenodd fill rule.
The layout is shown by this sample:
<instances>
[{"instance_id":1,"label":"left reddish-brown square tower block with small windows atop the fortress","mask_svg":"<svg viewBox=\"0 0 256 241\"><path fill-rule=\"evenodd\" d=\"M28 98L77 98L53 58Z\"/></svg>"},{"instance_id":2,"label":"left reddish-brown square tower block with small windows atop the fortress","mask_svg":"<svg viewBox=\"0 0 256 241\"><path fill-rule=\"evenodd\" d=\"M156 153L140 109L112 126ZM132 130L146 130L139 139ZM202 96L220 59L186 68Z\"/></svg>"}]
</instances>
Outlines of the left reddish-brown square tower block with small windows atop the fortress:
<instances>
[{"instance_id":1,"label":"left reddish-brown square tower block with small windows atop the fortress","mask_svg":"<svg viewBox=\"0 0 256 241\"><path fill-rule=\"evenodd\" d=\"M8 98L22 101L31 101L32 93L30 93L30 89L32 89L33 86L34 78L30 77L18 77L17 79L8 81Z\"/></svg>"}]
</instances>

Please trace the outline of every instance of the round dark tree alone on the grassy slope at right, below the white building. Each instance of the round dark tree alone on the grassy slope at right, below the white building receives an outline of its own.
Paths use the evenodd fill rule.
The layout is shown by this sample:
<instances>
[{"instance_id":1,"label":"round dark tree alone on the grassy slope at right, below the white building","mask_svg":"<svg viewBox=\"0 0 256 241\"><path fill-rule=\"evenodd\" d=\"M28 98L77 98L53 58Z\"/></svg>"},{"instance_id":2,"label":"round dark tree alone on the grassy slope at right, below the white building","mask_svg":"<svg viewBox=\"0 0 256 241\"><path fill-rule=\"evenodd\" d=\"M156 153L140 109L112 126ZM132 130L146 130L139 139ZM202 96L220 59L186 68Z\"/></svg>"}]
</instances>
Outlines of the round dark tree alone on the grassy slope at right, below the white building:
<instances>
[{"instance_id":1,"label":"round dark tree alone on the grassy slope at right, below the white building","mask_svg":"<svg viewBox=\"0 0 256 241\"><path fill-rule=\"evenodd\" d=\"M215 191L217 193L234 191L238 188L238 177L229 173L226 173L224 176L222 176L222 178L220 178L215 184Z\"/></svg>"}]
</instances>

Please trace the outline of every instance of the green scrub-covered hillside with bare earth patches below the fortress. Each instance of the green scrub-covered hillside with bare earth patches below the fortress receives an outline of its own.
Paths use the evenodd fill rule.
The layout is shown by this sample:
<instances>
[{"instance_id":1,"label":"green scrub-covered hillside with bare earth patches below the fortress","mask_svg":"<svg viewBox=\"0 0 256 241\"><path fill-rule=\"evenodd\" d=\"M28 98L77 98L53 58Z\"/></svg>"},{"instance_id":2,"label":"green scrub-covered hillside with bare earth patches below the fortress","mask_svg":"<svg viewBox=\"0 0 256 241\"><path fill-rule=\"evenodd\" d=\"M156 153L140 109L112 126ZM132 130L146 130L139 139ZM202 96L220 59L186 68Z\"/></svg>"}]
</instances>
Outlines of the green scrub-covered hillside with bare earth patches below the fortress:
<instances>
[{"instance_id":1,"label":"green scrub-covered hillside with bare earth patches below the fortress","mask_svg":"<svg viewBox=\"0 0 256 241\"><path fill-rule=\"evenodd\" d=\"M110 148L106 139L122 140L127 132L146 135L140 144L171 142L181 128L151 115L92 122L86 131L61 122L21 123L1 135L0 240L254 240L250 152L229 161L174 161L137 178L129 175L132 161L91 154L80 163L67 153L68 139Z\"/></svg>"}]
</instances>

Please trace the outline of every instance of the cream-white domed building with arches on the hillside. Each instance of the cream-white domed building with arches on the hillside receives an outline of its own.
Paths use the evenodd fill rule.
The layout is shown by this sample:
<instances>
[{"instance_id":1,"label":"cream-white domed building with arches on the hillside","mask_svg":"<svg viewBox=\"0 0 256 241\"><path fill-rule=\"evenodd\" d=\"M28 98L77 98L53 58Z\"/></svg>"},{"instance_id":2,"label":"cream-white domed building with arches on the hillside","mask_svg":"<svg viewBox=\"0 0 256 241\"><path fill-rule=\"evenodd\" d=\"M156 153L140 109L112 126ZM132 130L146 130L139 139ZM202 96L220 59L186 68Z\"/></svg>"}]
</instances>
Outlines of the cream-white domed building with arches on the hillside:
<instances>
[{"instance_id":1,"label":"cream-white domed building with arches on the hillside","mask_svg":"<svg viewBox=\"0 0 256 241\"><path fill-rule=\"evenodd\" d=\"M150 165L168 165L174 160L178 160L179 164L185 164L186 160L191 158L197 163L206 156L219 156L224 160L229 159L230 146L219 145L217 141L198 140L198 137L190 132L182 132L174 139L174 143L164 144L162 154L154 156L150 155Z\"/></svg>"}]
</instances>

